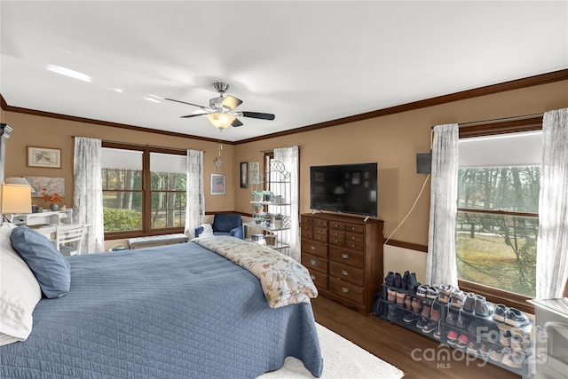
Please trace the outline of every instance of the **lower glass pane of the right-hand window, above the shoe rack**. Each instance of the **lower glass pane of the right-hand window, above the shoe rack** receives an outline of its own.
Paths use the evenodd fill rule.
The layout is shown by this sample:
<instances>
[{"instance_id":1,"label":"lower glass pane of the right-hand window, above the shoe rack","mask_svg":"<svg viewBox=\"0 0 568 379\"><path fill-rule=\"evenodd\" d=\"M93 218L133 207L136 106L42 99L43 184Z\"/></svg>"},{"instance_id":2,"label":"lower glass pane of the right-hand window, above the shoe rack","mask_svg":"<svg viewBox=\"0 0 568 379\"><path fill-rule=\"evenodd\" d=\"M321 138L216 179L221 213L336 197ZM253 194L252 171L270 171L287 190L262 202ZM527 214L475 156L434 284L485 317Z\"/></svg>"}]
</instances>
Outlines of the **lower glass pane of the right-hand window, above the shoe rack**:
<instances>
[{"instance_id":1,"label":"lower glass pane of the right-hand window, above the shoe rack","mask_svg":"<svg viewBox=\"0 0 568 379\"><path fill-rule=\"evenodd\" d=\"M458 278L520 295L536 295L536 217L458 212Z\"/></svg>"}]
</instances>

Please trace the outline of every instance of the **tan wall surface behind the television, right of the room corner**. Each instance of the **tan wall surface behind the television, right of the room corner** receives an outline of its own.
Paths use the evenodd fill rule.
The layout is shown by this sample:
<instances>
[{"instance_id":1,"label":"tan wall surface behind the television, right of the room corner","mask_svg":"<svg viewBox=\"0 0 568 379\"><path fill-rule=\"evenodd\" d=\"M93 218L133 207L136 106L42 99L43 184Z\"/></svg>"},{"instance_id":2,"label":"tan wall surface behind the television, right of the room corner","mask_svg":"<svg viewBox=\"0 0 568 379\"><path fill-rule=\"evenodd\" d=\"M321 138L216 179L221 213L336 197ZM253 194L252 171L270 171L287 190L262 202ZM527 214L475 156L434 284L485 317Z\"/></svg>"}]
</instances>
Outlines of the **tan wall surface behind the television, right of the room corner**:
<instances>
[{"instance_id":1,"label":"tan wall surface behind the television, right of the room corner","mask_svg":"<svg viewBox=\"0 0 568 379\"><path fill-rule=\"evenodd\" d=\"M440 106L322 130L237 145L237 162L261 161L261 150L300 146L300 212L310 211L310 166L327 163L378 162L378 218L385 238L412 207L427 177L416 174L416 154L430 150L433 125L474 122L568 107L568 81L455 101ZM238 169L238 167L237 167ZM248 191L238 188L236 210L250 212ZM430 212L430 183L406 223L392 239L426 245Z\"/></svg>"}]
</instances>

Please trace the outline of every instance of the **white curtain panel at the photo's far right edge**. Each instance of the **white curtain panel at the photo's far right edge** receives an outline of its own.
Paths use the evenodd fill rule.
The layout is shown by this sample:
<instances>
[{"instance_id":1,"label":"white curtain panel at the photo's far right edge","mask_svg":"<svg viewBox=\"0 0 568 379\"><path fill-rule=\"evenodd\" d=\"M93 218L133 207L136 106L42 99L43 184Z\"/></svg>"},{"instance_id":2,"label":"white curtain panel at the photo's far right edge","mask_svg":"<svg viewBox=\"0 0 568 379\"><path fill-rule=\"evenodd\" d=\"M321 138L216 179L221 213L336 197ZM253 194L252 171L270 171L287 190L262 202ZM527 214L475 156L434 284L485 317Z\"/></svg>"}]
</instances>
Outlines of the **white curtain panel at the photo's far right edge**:
<instances>
[{"instance_id":1,"label":"white curtain panel at the photo's far right edge","mask_svg":"<svg viewBox=\"0 0 568 379\"><path fill-rule=\"evenodd\" d=\"M568 280L568 108L542 119L536 296L562 297Z\"/></svg>"}]
</instances>

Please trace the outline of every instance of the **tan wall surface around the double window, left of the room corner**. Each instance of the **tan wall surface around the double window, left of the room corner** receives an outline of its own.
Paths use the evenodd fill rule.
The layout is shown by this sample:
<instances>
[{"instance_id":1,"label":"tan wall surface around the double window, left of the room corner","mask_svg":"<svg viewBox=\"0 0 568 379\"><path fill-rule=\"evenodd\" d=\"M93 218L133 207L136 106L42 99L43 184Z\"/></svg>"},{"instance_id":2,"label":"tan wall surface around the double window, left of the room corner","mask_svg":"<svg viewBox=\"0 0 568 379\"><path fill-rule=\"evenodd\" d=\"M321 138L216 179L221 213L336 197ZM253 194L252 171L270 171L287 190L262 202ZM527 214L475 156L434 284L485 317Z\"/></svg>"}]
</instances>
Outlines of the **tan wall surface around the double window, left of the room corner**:
<instances>
[{"instance_id":1,"label":"tan wall surface around the double window, left of the room corner","mask_svg":"<svg viewBox=\"0 0 568 379\"><path fill-rule=\"evenodd\" d=\"M127 130L85 122L66 121L57 118L32 114L3 111L2 122L8 123L13 131L6 143L5 177L55 177L65 178L65 200L67 207L73 206L73 149L74 138L91 137L103 140L125 142L138 145L196 149L205 152L203 170L205 172L205 203L208 211L232 211L234 196L231 190L235 184L233 176L234 146L225 145L221 158L225 162L219 171L213 160L217 156L216 142L194 138L180 138L151 132ZM42 146L61 149L61 169L27 167L27 146ZM209 195L209 174L226 175L226 195ZM45 207L41 198L33 198L34 204Z\"/></svg>"}]
</instances>

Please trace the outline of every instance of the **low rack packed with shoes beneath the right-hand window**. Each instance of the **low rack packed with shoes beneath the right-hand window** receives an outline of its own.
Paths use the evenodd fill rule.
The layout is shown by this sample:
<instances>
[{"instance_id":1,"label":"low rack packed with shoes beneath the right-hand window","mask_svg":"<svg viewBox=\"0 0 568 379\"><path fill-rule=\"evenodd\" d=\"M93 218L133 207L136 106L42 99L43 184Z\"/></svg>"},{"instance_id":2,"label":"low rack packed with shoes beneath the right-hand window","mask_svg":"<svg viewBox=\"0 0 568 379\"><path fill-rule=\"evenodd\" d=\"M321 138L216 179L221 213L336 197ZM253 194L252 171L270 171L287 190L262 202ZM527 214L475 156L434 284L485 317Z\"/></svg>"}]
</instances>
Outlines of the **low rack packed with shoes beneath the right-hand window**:
<instances>
[{"instance_id":1,"label":"low rack packed with shoes beneath the right-hand window","mask_svg":"<svg viewBox=\"0 0 568 379\"><path fill-rule=\"evenodd\" d=\"M475 309L466 312L460 302L439 296L434 289L424 291L424 287L428 288L420 286L415 291L385 282L382 298L376 299L381 304L375 304L375 315L523 378L530 377L533 320L514 327L493 320L493 314L477 315Z\"/></svg>"}]
</instances>

